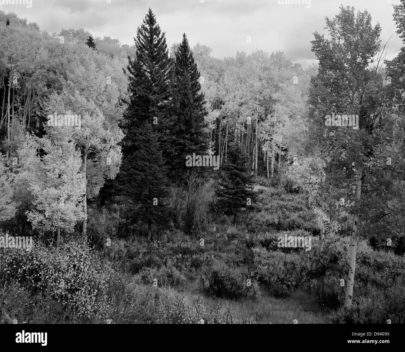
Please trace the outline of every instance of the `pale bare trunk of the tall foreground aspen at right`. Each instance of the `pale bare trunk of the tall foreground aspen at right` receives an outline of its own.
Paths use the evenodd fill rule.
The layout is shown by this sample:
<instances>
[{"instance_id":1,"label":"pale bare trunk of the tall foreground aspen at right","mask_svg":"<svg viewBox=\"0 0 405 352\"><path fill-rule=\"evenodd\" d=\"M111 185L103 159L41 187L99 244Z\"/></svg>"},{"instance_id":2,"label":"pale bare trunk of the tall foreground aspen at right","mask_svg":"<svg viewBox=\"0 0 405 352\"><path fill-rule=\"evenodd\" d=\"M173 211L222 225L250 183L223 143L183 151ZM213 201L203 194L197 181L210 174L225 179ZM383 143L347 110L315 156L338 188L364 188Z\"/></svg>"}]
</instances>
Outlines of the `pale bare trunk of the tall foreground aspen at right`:
<instances>
[{"instance_id":1,"label":"pale bare trunk of the tall foreground aspen at right","mask_svg":"<svg viewBox=\"0 0 405 352\"><path fill-rule=\"evenodd\" d=\"M346 285L346 299L345 299L346 308L352 307L353 301L354 271L356 269L357 230L358 230L360 198L361 198L362 174L363 174L363 163L360 157L357 166L356 202L353 211L352 242L350 243L351 247L350 247L349 277Z\"/></svg>"}]
</instances>

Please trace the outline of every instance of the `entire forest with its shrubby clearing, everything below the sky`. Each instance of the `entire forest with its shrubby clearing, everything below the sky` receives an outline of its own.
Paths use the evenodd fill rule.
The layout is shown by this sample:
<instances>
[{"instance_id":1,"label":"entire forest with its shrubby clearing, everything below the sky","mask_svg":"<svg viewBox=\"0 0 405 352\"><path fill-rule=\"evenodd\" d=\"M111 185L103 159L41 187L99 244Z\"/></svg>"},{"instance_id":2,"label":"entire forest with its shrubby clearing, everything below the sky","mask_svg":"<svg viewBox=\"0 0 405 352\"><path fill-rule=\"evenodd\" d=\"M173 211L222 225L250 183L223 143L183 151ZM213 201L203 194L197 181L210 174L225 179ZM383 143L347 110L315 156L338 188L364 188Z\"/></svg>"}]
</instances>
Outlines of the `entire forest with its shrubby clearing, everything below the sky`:
<instances>
[{"instance_id":1,"label":"entire forest with its shrubby clearing, everything below the sky","mask_svg":"<svg viewBox=\"0 0 405 352\"><path fill-rule=\"evenodd\" d=\"M335 13L303 69L0 11L0 322L404 323L405 46Z\"/></svg>"}]
</instances>

